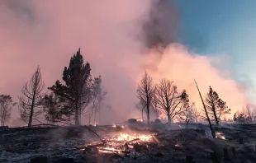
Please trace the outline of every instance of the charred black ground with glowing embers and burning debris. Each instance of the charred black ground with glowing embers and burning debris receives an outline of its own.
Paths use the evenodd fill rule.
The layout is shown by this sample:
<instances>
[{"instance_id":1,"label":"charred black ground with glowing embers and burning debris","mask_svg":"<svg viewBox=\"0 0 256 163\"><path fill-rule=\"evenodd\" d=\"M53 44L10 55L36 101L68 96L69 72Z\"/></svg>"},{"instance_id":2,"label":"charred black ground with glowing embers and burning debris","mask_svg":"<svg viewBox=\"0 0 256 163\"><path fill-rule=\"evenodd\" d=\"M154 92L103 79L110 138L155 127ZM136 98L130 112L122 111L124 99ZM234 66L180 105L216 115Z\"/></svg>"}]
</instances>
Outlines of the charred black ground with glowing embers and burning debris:
<instances>
[{"instance_id":1,"label":"charred black ground with glowing embers and burning debris","mask_svg":"<svg viewBox=\"0 0 256 163\"><path fill-rule=\"evenodd\" d=\"M122 125L0 128L0 162L256 162L256 125Z\"/></svg>"}]
</instances>

